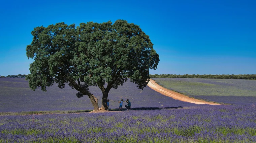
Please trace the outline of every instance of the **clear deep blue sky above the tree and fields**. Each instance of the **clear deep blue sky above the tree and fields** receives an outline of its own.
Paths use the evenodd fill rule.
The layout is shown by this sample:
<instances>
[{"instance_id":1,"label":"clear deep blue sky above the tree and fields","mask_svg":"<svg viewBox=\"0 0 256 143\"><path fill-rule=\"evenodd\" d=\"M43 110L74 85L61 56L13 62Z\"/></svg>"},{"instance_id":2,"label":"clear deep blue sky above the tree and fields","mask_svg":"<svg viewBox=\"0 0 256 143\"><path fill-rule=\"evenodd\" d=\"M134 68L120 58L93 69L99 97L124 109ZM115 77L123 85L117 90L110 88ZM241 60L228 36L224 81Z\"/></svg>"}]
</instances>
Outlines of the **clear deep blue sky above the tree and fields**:
<instances>
[{"instance_id":1,"label":"clear deep blue sky above the tree and fields","mask_svg":"<svg viewBox=\"0 0 256 143\"><path fill-rule=\"evenodd\" d=\"M117 19L140 25L160 56L150 74L256 74L255 0L2 1L0 75L29 74L34 27Z\"/></svg>"}]
</instances>

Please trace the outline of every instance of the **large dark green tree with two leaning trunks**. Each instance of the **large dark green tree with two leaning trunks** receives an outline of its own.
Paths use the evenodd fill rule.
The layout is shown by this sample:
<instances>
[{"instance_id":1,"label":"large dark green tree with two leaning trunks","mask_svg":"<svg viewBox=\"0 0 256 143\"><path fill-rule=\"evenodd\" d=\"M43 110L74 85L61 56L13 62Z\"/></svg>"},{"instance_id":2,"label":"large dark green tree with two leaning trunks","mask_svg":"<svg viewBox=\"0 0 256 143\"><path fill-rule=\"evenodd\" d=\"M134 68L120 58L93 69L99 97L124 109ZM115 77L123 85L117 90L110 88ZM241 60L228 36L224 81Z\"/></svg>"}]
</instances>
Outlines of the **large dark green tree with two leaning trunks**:
<instances>
[{"instance_id":1,"label":"large dark green tree with two leaning trunks","mask_svg":"<svg viewBox=\"0 0 256 143\"><path fill-rule=\"evenodd\" d=\"M89 86L101 89L101 108L106 109L111 88L117 89L129 78L143 89L150 79L149 69L155 70L159 62L149 36L125 20L77 27L61 22L36 27L31 33L33 41L26 48L27 57L34 59L26 76L29 87L46 91L55 82L59 88L68 83L78 91L78 98L90 98L95 111L99 110L98 99Z\"/></svg>"}]
</instances>

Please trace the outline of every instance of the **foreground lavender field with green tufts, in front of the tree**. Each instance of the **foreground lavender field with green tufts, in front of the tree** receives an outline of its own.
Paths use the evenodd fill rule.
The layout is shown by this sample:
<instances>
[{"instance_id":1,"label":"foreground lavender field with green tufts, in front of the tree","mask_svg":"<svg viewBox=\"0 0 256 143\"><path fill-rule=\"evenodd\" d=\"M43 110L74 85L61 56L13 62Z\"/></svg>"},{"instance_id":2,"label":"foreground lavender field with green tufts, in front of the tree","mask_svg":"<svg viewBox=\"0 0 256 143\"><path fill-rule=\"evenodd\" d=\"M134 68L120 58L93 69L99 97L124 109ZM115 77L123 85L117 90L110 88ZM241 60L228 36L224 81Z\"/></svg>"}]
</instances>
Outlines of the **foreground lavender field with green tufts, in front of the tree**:
<instances>
[{"instance_id":1,"label":"foreground lavender field with green tufts, in front of the tree","mask_svg":"<svg viewBox=\"0 0 256 143\"><path fill-rule=\"evenodd\" d=\"M256 108L0 116L0 142L256 142Z\"/></svg>"}]
</instances>

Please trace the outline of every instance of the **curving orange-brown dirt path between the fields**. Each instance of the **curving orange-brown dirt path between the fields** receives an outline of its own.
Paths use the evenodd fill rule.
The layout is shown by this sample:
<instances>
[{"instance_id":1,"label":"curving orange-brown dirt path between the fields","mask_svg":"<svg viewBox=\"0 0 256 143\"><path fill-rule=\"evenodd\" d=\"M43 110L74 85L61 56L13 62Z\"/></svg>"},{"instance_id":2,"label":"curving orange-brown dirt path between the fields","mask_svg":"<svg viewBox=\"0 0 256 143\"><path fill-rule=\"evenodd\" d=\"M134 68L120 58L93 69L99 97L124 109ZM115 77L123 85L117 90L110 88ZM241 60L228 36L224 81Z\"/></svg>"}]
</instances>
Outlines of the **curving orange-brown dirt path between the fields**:
<instances>
[{"instance_id":1,"label":"curving orange-brown dirt path between the fields","mask_svg":"<svg viewBox=\"0 0 256 143\"><path fill-rule=\"evenodd\" d=\"M175 92L175 91L172 91L172 90L169 90L169 89L166 89L160 85L158 85L154 80L150 79L149 83L148 83L148 86L150 88L152 88L153 90L165 95L165 96L168 96L168 97L171 97L173 99L177 99L177 100L181 100L181 101L185 101L185 102L190 102L190 103L195 103L195 104L210 104L210 105L220 105L218 103L214 103L214 102L207 102L207 101L203 101L203 100L198 100L198 99L195 99L195 98L190 98L188 96L185 96L185 95L182 95L178 92Z\"/></svg>"}]
</instances>

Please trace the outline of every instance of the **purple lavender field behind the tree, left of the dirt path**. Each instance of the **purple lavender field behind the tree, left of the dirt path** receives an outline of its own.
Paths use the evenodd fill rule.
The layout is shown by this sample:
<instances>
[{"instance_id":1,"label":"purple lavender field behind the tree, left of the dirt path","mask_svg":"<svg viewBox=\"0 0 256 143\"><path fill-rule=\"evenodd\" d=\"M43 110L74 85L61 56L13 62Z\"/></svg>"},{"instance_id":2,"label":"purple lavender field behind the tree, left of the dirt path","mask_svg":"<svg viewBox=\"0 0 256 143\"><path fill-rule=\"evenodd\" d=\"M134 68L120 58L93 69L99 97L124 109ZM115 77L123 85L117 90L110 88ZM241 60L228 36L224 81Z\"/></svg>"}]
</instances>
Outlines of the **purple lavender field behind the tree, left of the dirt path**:
<instances>
[{"instance_id":1,"label":"purple lavender field behind the tree, left of the dirt path","mask_svg":"<svg viewBox=\"0 0 256 143\"><path fill-rule=\"evenodd\" d=\"M77 98L77 91L68 85L60 89L56 84L48 87L47 92L40 89L32 91L25 78L0 78L0 91L0 112L93 110L89 97ZM90 87L90 91L101 101L102 92L98 87ZM130 81L118 89L111 89L108 98L110 109L119 107L120 98L130 99L132 108L195 105L163 96L149 87L138 89L136 84Z\"/></svg>"}]
</instances>

